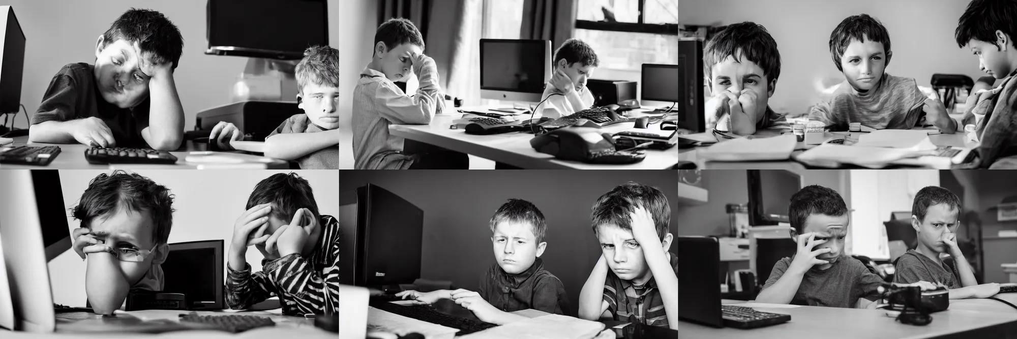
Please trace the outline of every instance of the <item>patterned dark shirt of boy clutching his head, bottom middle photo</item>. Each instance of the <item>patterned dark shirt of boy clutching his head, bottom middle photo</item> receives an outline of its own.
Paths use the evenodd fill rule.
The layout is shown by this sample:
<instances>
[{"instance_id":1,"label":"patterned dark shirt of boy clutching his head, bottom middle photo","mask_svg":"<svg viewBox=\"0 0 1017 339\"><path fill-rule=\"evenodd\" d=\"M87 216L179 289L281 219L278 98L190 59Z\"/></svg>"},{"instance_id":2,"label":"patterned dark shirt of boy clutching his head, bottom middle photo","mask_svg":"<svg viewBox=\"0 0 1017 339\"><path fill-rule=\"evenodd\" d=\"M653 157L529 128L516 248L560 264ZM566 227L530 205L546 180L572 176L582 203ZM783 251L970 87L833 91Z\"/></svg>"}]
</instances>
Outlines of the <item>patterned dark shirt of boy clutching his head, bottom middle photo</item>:
<instances>
[{"instance_id":1,"label":"patterned dark shirt of boy clutching his head, bottom middle photo","mask_svg":"<svg viewBox=\"0 0 1017 339\"><path fill-rule=\"evenodd\" d=\"M667 253L670 256L668 263L674 268L674 274L678 274L678 256ZM618 293L622 293L619 297ZM630 280L621 280L614 272L607 271L607 279L604 280L604 301L607 301L607 311L611 313L611 319L620 322L640 323L644 325L668 327L667 312L664 310L664 299L657 288L657 279L650 278L642 286L637 286ZM618 300L622 302L618 302Z\"/></svg>"}]
</instances>

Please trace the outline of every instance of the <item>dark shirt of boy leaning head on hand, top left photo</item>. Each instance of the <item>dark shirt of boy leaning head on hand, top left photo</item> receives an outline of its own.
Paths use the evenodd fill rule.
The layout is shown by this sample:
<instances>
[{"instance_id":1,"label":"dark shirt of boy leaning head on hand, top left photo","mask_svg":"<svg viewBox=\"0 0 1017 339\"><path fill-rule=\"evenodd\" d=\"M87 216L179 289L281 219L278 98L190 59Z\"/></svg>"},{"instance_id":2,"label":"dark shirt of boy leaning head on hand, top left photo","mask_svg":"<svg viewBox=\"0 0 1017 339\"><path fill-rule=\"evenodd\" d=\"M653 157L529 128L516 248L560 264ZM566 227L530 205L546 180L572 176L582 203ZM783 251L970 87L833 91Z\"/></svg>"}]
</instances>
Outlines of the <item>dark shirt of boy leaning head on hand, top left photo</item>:
<instances>
[{"instance_id":1,"label":"dark shirt of boy leaning head on hand, top left photo","mask_svg":"<svg viewBox=\"0 0 1017 339\"><path fill-rule=\"evenodd\" d=\"M147 148L141 130L148 127L149 99L130 109L106 101L99 92L94 69L95 66L86 63L67 64L61 68L46 88L39 110L32 115L32 124L96 117L109 126L117 146Z\"/></svg>"}]
</instances>

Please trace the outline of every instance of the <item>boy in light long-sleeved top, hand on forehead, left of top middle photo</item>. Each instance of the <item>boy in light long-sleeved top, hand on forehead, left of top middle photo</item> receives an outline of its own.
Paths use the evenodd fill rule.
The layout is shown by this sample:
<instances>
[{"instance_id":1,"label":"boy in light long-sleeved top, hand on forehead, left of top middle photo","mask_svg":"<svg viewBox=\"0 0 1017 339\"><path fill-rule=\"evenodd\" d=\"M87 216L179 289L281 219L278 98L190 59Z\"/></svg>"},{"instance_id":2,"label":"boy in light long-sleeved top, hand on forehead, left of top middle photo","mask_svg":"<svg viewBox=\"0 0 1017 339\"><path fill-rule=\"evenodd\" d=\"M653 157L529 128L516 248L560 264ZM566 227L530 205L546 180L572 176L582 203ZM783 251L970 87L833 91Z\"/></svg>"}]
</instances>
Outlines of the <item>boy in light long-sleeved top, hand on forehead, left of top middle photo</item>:
<instances>
[{"instance_id":1,"label":"boy in light long-sleeved top, hand on forehead, left of top middle photo","mask_svg":"<svg viewBox=\"0 0 1017 339\"><path fill-rule=\"evenodd\" d=\"M390 19L378 26L371 62L353 90L354 168L469 166L466 154L388 134L388 125L430 124L435 114L444 111L437 66L423 51L424 39L410 20ZM411 71L420 82L416 95L406 94L395 83L408 80Z\"/></svg>"}]
</instances>

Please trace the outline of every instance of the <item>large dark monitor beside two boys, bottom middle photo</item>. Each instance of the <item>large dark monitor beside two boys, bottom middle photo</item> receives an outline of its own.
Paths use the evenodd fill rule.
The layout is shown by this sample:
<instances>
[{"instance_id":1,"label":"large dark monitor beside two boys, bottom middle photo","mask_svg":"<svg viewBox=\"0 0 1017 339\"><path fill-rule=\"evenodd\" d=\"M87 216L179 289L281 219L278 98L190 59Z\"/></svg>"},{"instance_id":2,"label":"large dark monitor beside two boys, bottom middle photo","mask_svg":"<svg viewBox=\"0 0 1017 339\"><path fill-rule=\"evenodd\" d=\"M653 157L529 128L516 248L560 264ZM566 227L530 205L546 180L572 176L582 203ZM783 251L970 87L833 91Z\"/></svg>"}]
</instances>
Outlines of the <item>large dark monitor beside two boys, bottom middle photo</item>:
<instances>
[{"instance_id":1,"label":"large dark monitor beside two boys, bottom middle photo","mask_svg":"<svg viewBox=\"0 0 1017 339\"><path fill-rule=\"evenodd\" d=\"M339 281L385 288L420 278L424 211L400 196L368 184L340 192L343 239Z\"/></svg>"}]
</instances>

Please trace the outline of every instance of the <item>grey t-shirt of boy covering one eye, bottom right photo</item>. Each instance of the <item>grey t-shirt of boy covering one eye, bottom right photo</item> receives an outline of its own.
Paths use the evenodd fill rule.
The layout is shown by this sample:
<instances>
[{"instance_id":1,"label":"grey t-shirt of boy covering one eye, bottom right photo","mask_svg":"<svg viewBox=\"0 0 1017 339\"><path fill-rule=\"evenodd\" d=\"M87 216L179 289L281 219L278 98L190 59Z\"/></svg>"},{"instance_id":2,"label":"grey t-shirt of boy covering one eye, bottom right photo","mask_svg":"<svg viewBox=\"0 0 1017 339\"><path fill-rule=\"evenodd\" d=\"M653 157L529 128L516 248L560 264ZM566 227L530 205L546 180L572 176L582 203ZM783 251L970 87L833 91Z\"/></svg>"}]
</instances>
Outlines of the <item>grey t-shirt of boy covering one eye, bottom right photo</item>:
<instances>
[{"instance_id":1,"label":"grey t-shirt of boy covering one eye, bottom right photo","mask_svg":"<svg viewBox=\"0 0 1017 339\"><path fill-rule=\"evenodd\" d=\"M791 260L784 258L773 265L763 289L769 288L784 275ZM859 297L870 301L878 299L882 281L857 259L841 256L826 270L814 266L805 272L791 304L851 309Z\"/></svg>"}]
</instances>

